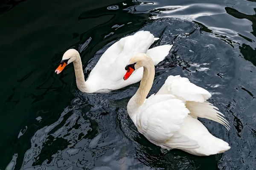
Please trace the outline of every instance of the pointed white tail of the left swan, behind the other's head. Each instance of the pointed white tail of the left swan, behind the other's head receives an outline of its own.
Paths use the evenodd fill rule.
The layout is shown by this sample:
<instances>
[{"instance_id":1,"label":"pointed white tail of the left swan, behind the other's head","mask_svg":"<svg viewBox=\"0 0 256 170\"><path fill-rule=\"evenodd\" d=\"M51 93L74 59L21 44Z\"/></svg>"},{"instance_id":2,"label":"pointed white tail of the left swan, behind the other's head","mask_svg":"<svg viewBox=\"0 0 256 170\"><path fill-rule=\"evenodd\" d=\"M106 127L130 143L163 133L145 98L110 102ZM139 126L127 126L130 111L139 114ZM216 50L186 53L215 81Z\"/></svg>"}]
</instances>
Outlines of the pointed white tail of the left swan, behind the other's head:
<instances>
[{"instance_id":1,"label":"pointed white tail of the left swan, behind the other's head","mask_svg":"<svg viewBox=\"0 0 256 170\"><path fill-rule=\"evenodd\" d=\"M157 65L159 62L163 61L163 59L165 59L165 57L169 54L169 51L172 49L172 46L173 45L160 45L148 49L147 55L153 59L154 65Z\"/></svg>"}]
</instances>

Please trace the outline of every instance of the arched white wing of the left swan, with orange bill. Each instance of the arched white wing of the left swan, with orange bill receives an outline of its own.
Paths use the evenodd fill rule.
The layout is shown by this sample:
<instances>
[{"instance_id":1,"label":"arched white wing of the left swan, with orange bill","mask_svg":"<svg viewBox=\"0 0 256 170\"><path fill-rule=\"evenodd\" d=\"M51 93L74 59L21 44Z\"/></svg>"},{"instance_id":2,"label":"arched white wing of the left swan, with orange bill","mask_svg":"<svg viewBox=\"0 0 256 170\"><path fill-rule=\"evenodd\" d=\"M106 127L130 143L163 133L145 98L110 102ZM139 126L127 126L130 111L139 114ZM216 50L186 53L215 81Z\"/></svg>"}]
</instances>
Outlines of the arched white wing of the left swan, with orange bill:
<instances>
[{"instance_id":1,"label":"arched white wing of the left swan, with orange bill","mask_svg":"<svg viewBox=\"0 0 256 170\"><path fill-rule=\"evenodd\" d=\"M154 35L149 31L138 31L134 35L122 38L111 45L111 47L102 54L102 57L91 71L90 77L93 76L97 77L97 79L104 79L106 84L108 84L108 82L115 84L119 80L127 84L131 81L129 79L136 76L137 71L134 71L131 78L124 82L125 66L133 55L146 53L153 42Z\"/></svg>"}]
</instances>

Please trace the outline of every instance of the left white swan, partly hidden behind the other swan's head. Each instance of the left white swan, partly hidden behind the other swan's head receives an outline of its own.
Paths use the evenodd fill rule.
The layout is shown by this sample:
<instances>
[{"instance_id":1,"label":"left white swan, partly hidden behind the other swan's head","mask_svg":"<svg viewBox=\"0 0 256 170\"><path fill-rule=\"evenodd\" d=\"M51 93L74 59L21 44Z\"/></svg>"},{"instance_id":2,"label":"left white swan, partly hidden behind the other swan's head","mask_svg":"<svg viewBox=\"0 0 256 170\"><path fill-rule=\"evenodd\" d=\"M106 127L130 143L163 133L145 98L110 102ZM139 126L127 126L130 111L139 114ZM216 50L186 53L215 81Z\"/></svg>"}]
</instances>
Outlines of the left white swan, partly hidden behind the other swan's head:
<instances>
[{"instance_id":1,"label":"left white swan, partly hidden behind the other swan's head","mask_svg":"<svg viewBox=\"0 0 256 170\"><path fill-rule=\"evenodd\" d=\"M172 45L161 45L148 49L154 40L154 35L149 31L138 31L134 35L127 36L115 42L102 54L85 82L81 57L75 49L67 50L61 60L61 64L55 70L59 74L66 65L73 62L76 74L76 84L84 93L108 92L127 85L139 82L142 79L143 68L134 71L134 75L128 81L123 80L123 69L134 54L146 53L154 61L154 65L161 62L172 48Z\"/></svg>"}]
</instances>

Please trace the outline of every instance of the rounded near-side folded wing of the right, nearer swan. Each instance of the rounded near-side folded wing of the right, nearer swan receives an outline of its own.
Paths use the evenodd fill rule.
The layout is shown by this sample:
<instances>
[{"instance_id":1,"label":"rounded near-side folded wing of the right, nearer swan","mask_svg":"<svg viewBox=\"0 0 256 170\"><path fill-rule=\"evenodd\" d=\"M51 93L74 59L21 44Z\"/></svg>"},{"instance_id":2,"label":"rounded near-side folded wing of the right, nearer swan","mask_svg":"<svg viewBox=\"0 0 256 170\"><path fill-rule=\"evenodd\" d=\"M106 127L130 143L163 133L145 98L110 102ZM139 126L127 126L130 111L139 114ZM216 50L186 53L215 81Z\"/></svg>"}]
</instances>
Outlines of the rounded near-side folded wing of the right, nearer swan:
<instances>
[{"instance_id":1,"label":"rounded near-side folded wing of the right, nearer swan","mask_svg":"<svg viewBox=\"0 0 256 170\"><path fill-rule=\"evenodd\" d=\"M176 133L189 110L172 95L150 96L137 112L136 124L150 142L163 148L197 148L197 142Z\"/></svg>"}]
</instances>

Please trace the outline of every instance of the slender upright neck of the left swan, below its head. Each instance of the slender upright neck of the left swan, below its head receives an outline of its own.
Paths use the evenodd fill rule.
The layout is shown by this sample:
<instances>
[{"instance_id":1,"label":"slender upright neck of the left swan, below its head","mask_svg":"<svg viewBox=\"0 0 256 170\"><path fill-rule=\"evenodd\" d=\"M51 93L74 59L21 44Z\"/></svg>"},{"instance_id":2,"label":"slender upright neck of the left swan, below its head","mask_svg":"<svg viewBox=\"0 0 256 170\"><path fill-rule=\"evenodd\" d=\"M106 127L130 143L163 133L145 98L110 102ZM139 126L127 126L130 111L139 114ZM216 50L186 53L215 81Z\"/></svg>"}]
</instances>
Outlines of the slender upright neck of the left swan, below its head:
<instances>
[{"instance_id":1,"label":"slender upright neck of the left swan, below its head","mask_svg":"<svg viewBox=\"0 0 256 170\"><path fill-rule=\"evenodd\" d=\"M75 68L77 88L80 91L87 93L86 82L84 79L84 72L83 72L83 66L82 66L80 55L77 57L77 59L75 61L73 61L73 64L74 64L74 68Z\"/></svg>"}]
</instances>

